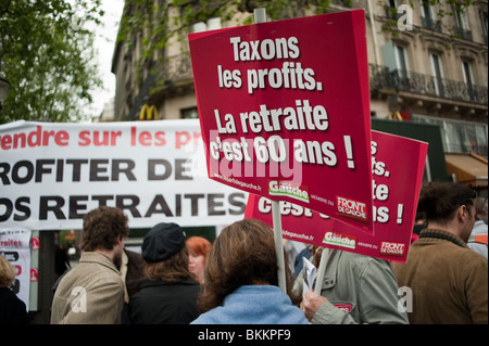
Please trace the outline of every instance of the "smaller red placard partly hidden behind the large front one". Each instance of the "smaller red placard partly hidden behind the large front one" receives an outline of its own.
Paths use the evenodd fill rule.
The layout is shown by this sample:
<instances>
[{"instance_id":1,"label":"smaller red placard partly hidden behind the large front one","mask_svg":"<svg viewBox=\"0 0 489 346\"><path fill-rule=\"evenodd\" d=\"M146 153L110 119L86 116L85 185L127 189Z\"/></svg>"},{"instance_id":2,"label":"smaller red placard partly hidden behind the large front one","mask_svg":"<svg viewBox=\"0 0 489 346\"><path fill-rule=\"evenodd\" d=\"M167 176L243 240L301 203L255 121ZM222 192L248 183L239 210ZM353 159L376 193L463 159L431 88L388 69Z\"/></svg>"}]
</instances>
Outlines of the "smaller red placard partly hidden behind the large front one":
<instances>
[{"instance_id":1,"label":"smaller red placard partly hidden behind the large front one","mask_svg":"<svg viewBox=\"0 0 489 346\"><path fill-rule=\"evenodd\" d=\"M427 150L427 143L372 131L373 235L302 206L281 203L284 238L405 262ZM269 201L250 194L244 217L272 226Z\"/></svg>"}]
</instances>

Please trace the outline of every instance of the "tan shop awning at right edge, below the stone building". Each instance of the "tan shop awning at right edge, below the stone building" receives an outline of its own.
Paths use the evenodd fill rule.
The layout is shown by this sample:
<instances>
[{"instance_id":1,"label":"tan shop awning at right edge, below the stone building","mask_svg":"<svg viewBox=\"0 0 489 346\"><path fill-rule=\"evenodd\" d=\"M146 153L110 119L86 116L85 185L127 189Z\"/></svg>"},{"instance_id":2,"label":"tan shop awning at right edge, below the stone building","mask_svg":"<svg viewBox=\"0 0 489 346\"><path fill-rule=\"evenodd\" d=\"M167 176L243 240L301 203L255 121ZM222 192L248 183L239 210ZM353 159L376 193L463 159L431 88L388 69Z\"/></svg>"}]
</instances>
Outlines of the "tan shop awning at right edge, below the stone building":
<instances>
[{"instance_id":1,"label":"tan shop awning at right edge, below the stone building","mask_svg":"<svg viewBox=\"0 0 489 346\"><path fill-rule=\"evenodd\" d=\"M447 172L454 175L456 182L474 189L487 189L487 159L471 154L444 154Z\"/></svg>"}]
</instances>

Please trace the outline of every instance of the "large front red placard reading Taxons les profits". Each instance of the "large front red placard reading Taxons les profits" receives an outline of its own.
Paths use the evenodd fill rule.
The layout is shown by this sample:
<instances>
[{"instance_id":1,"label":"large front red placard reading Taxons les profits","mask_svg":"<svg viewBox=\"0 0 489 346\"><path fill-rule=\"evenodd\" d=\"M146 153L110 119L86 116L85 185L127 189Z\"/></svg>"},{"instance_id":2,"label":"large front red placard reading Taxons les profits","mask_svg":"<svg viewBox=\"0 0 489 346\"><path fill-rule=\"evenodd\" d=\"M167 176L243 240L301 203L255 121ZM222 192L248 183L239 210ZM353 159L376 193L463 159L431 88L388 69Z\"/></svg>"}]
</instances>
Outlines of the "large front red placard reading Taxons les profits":
<instances>
[{"instance_id":1,"label":"large front red placard reading Taxons les profits","mask_svg":"<svg viewBox=\"0 0 489 346\"><path fill-rule=\"evenodd\" d=\"M209 177L373 232L363 10L189 35Z\"/></svg>"}]
</instances>

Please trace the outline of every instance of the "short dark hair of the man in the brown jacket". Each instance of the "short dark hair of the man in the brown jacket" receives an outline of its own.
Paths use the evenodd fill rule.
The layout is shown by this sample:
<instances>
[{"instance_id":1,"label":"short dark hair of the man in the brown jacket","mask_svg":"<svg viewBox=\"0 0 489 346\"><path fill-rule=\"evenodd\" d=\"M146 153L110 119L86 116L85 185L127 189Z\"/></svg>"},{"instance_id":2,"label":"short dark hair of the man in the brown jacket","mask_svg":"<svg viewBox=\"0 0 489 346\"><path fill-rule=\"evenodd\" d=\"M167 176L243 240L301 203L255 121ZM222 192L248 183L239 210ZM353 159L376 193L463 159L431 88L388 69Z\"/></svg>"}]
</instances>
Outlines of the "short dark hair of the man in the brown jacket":
<instances>
[{"instance_id":1,"label":"short dark hair of the man in the brown jacket","mask_svg":"<svg viewBox=\"0 0 489 346\"><path fill-rule=\"evenodd\" d=\"M475 191L454 182L432 181L423 187L417 212L424 213L428 222L447 223L462 205L474 205Z\"/></svg>"}]
</instances>

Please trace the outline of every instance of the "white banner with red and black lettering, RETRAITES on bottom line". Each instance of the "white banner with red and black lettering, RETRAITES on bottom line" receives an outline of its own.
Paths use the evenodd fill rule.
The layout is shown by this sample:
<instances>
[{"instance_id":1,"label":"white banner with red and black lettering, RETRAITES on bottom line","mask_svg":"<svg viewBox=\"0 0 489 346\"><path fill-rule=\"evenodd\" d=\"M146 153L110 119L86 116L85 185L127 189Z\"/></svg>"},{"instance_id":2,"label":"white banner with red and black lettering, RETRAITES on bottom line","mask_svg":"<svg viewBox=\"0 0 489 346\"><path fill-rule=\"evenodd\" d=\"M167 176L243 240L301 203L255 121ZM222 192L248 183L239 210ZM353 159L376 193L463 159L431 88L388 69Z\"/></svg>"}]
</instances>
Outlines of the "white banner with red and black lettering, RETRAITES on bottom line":
<instances>
[{"instance_id":1,"label":"white banner with red and black lettering, RETRAITES on bottom line","mask_svg":"<svg viewBox=\"0 0 489 346\"><path fill-rule=\"evenodd\" d=\"M100 205L130 228L241 219L247 193L206 176L199 120L0 126L0 229L82 229Z\"/></svg>"}]
</instances>

